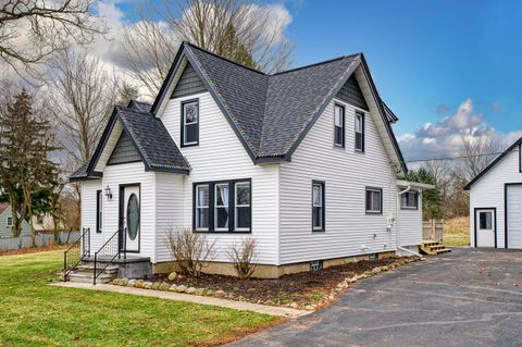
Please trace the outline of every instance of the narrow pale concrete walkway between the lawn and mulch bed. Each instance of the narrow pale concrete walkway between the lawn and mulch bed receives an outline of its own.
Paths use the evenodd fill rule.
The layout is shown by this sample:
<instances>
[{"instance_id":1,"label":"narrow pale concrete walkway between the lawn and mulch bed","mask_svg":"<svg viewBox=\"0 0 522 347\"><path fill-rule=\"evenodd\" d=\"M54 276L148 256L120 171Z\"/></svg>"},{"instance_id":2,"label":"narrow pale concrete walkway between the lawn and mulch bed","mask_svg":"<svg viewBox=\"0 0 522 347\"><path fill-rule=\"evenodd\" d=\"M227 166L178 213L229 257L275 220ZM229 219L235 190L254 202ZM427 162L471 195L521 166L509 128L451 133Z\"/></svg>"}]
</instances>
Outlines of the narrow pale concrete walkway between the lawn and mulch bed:
<instances>
[{"instance_id":1,"label":"narrow pale concrete walkway between the lawn and mulch bed","mask_svg":"<svg viewBox=\"0 0 522 347\"><path fill-rule=\"evenodd\" d=\"M120 287L120 286L114 286L110 284L92 285L88 283L77 283L77 282L57 282L51 285L58 286L58 287L103 290L103 292L111 292L111 293L156 297L156 298L166 299L166 300L219 306L219 307L238 310L238 311L252 311L257 313L263 313L263 314L275 315L275 317L297 318L297 317L311 313L311 311L301 311L301 310L284 308L284 307L264 306L259 303L233 301L233 300L189 295L189 294L181 294L181 293L148 290L148 289L133 288L133 287Z\"/></svg>"}]
</instances>

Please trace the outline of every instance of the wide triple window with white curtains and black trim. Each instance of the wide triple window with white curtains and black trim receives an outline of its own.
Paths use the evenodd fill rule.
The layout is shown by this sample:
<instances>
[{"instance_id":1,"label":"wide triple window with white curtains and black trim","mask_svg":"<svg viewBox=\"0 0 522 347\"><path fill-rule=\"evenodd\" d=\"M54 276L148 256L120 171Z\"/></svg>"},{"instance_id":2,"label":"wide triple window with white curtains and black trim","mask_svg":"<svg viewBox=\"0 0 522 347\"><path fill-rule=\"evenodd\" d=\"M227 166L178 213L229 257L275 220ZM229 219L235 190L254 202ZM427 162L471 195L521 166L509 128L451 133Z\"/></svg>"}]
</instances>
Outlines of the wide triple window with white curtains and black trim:
<instances>
[{"instance_id":1,"label":"wide triple window with white curtains and black trim","mask_svg":"<svg viewBox=\"0 0 522 347\"><path fill-rule=\"evenodd\" d=\"M194 194L195 231L251 231L250 179L197 183L194 185Z\"/></svg>"}]
</instances>

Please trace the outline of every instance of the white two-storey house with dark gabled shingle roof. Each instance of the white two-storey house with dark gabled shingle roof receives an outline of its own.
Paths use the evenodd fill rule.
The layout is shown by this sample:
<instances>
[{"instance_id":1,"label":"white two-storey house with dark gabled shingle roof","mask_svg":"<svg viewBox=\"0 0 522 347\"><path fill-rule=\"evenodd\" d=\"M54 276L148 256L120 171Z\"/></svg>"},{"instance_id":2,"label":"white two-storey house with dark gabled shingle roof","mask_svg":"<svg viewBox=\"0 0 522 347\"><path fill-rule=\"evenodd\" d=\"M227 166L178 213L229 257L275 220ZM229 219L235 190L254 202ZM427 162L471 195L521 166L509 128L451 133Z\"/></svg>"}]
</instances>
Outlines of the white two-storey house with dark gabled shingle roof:
<instances>
[{"instance_id":1,"label":"white two-storey house with dark gabled shingle roof","mask_svg":"<svg viewBox=\"0 0 522 347\"><path fill-rule=\"evenodd\" d=\"M402 181L397 121L362 53L266 75L184 44L153 104L116 108L71 176L82 226L92 252L126 228L154 272L177 227L215 241L210 272L234 273L227 250L248 236L269 277L411 253L423 186Z\"/></svg>"}]
</instances>

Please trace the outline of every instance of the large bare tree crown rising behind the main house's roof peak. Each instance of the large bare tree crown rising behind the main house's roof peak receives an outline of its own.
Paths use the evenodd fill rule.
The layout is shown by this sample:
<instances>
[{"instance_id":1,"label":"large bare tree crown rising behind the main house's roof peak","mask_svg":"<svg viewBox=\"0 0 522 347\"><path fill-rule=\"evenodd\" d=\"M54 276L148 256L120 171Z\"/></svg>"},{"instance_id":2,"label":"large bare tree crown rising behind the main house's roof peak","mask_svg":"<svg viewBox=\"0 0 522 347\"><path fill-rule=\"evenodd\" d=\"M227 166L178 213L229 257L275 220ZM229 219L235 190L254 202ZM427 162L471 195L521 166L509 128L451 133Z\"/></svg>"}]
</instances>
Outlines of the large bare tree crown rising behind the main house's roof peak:
<instances>
[{"instance_id":1,"label":"large bare tree crown rising behind the main house's roof peak","mask_svg":"<svg viewBox=\"0 0 522 347\"><path fill-rule=\"evenodd\" d=\"M266 73L282 71L293 45L283 33L288 18L274 9L248 0L148 2L124 29L132 74L156 96L183 40Z\"/></svg>"}]
</instances>

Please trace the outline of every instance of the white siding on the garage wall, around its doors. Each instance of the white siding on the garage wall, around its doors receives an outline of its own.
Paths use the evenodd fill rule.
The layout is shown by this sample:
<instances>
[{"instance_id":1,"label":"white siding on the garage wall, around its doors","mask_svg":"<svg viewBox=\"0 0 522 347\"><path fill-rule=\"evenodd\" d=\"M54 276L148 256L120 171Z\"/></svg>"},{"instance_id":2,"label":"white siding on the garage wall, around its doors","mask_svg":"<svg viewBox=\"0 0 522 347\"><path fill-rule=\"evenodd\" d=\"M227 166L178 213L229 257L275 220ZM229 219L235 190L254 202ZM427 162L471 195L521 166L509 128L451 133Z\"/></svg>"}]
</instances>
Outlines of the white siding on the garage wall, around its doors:
<instances>
[{"instance_id":1,"label":"white siding on the garage wall, around its doors","mask_svg":"<svg viewBox=\"0 0 522 347\"><path fill-rule=\"evenodd\" d=\"M470 241L471 246L475 246L474 239L474 210L496 208L497 209L497 247L505 248L505 184L522 183L522 173L519 170L519 148L508 153L494 168L492 168L484 176L482 176L470 189ZM508 227L509 230L509 227ZM508 248L522 248L508 239Z\"/></svg>"}]
</instances>

